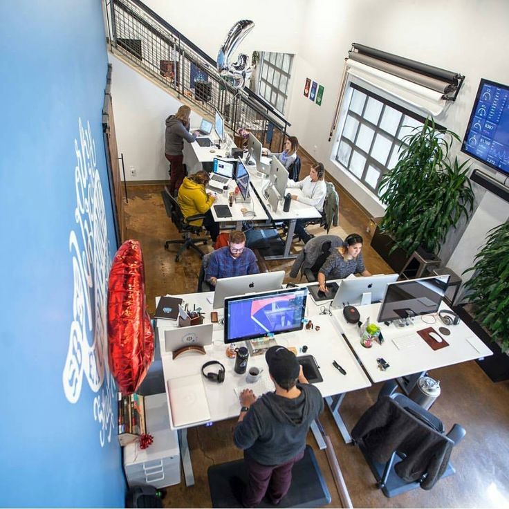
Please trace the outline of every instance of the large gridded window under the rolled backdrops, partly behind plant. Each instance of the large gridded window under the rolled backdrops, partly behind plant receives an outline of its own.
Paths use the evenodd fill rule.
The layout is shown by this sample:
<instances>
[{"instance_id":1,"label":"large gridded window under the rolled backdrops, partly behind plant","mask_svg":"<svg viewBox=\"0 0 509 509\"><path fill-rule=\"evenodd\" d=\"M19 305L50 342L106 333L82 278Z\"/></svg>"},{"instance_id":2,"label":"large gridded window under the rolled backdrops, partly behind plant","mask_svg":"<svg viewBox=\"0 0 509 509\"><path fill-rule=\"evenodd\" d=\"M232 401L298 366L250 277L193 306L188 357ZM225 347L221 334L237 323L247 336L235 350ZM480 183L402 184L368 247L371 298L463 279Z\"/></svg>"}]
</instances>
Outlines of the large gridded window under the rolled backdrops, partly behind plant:
<instances>
[{"instance_id":1,"label":"large gridded window under the rolled backdrops, partly behind plant","mask_svg":"<svg viewBox=\"0 0 509 509\"><path fill-rule=\"evenodd\" d=\"M401 140L425 119L351 83L350 102L336 160L380 195L380 178L394 168Z\"/></svg>"}]
</instances>

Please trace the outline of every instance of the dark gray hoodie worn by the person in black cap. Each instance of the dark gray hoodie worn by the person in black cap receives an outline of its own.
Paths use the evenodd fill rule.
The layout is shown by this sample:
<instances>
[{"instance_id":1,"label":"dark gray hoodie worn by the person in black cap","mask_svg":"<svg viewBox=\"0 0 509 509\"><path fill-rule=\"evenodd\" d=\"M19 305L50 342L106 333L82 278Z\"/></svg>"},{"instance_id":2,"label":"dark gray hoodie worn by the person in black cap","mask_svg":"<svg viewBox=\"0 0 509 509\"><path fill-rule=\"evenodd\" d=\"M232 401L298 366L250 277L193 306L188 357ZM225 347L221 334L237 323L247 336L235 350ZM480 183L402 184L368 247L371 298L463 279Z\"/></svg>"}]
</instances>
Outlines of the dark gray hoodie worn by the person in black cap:
<instances>
[{"instance_id":1,"label":"dark gray hoodie worn by the person in black cap","mask_svg":"<svg viewBox=\"0 0 509 509\"><path fill-rule=\"evenodd\" d=\"M235 445L261 465L281 465L304 450L309 426L324 409L316 387L299 383L297 387L301 394L294 399L263 394L235 427Z\"/></svg>"}]
</instances>

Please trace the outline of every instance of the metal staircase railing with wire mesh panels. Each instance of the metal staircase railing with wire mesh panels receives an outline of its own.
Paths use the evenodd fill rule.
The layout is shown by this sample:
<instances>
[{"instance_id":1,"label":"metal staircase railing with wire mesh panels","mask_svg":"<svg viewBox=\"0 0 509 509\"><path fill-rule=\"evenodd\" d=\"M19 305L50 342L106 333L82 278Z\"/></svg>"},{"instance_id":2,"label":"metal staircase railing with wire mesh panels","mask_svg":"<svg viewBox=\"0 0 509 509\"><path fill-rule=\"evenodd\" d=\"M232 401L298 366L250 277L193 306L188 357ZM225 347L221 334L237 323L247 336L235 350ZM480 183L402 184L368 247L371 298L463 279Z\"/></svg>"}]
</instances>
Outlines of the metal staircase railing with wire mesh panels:
<instances>
[{"instance_id":1,"label":"metal staircase railing with wire mesh panels","mask_svg":"<svg viewBox=\"0 0 509 509\"><path fill-rule=\"evenodd\" d=\"M246 129L282 149L290 123L268 102L225 82L214 59L140 0L105 0L105 6L112 50L212 118L217 109L234 134Z\"/></svg>"}]
</instances>

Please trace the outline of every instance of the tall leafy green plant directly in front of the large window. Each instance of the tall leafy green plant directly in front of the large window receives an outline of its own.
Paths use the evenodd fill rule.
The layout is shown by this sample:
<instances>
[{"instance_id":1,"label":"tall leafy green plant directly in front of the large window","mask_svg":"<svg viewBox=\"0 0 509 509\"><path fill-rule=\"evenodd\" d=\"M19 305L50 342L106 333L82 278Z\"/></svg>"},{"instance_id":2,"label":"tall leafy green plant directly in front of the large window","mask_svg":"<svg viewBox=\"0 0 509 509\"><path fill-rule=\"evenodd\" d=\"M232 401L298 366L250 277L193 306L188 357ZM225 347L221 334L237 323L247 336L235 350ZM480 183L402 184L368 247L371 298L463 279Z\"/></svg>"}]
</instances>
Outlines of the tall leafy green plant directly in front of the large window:
<instances>
[{"instance_id":1,"label":"tall leafy green plant directly in front of the large window","mask_svg":"<svg viewBox=\"0 0 509 509\"><path fill-rule=\"evenodd\" d=\"M425 120L403 138L398 163L380 181L380 200L387 205L380 229L408 255L419 247L438 253L450 228L472 212L469 161L449 158L454 139L456 133Z\"/></svg>"}]
</instances>

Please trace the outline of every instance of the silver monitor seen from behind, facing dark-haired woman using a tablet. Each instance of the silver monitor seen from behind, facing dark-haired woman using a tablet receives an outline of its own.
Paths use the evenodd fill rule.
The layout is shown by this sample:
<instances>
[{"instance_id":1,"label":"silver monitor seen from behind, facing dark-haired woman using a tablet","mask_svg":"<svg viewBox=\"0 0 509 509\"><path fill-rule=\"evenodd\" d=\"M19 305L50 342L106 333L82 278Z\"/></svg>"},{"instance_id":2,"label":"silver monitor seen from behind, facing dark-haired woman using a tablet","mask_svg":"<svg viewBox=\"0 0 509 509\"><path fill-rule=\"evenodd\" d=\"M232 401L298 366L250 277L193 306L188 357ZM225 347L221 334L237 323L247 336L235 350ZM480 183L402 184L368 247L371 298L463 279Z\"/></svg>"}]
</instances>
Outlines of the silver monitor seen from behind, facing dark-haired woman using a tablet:
<instances>
[{"instance_id":1,"label":"silver monitor seen from behind, facing dark-haired woman using a tablet","mask_svg":"<svg viewBox=\"0 0 509 509\"><path fill-rule=\"evenodd\" d=\"M353 306L361 303L380 302L384 298L387 284L398 281L398 277L398 274L380 274L369 277L355 277L355 279L342 279L331 307L342 308L349 304Z\"/></svg>"}]
</instances>

